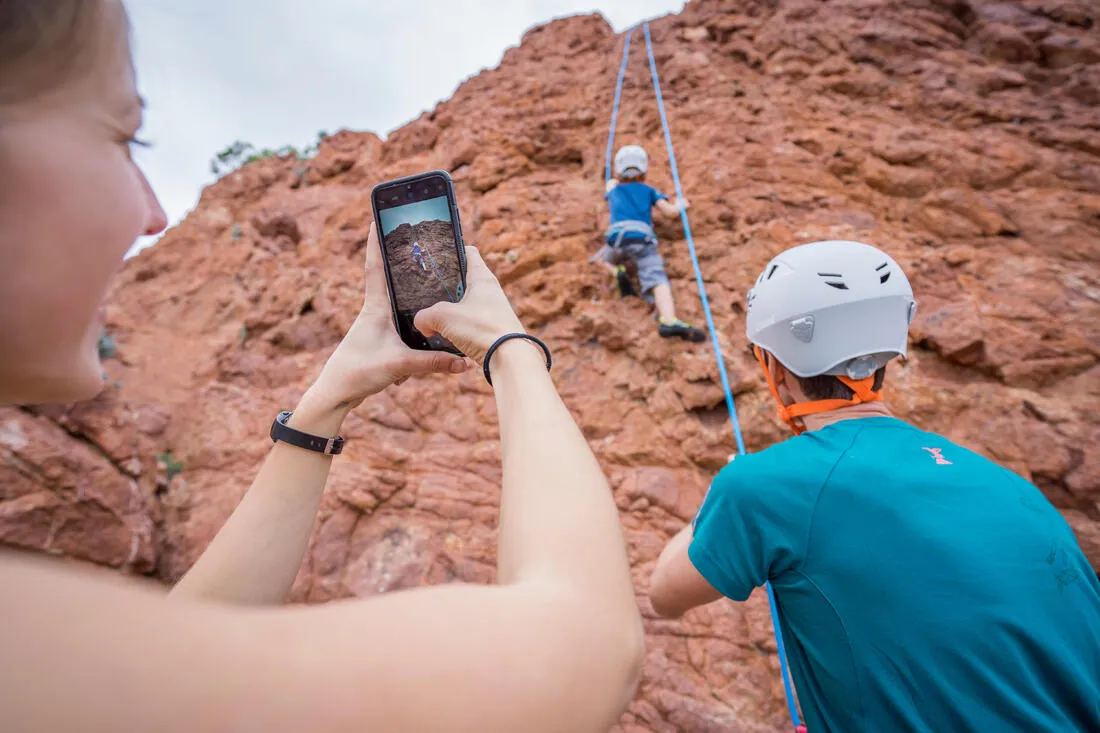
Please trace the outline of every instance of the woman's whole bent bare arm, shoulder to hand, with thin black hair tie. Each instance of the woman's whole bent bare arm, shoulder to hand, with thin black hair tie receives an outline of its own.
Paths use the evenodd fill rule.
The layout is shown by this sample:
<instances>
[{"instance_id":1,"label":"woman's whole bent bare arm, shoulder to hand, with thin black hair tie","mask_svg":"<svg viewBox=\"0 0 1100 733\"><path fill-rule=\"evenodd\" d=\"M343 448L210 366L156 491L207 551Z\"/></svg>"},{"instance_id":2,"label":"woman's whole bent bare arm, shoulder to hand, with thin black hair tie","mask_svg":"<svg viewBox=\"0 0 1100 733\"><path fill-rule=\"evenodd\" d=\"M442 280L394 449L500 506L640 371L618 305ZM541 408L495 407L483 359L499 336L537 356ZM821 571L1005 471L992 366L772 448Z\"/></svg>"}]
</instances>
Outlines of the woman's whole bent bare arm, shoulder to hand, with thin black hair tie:
<instances>
[{"instance_id":1,"label":"woman's whole bent bare arm, shoulder to hand, with thin black hair tie","mask_svg":"<svg viewBox=\"0 0 1100 733\"><path fill-rule=\"evenodd\" d=\"M463 303L417 325L480 360L521 326L469 252ZM525 343L493 358L502 584L241 608L0 556L0 730L606 731L640 616L610 492L544 370Z\"/></svg>"}]
</instances>

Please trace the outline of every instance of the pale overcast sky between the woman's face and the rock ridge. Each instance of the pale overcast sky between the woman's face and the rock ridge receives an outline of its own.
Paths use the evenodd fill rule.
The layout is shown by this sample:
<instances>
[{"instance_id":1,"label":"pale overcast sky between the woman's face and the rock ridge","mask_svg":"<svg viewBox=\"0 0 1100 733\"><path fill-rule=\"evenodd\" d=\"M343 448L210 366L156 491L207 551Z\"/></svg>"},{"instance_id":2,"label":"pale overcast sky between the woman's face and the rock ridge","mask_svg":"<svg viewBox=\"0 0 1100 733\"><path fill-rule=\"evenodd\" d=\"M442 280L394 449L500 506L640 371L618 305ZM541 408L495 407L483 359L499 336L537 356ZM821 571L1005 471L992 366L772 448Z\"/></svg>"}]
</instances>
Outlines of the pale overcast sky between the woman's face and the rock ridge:
<instances>
[{"instance_id":1,"label":"pale overcast sky between the woman's face and the rock ridge","mask_svg":"<svg viewBox=\"0 0 1100 733\"><path fill-rule=\"evenodd\" d=\"M600 11L617 31L683 0L129 0L148 108L138 152L172 222L235 140L312 143L321 130L383 136L496 66L524 32ZM609 111L608 111L609 113ZM148 244L148 240L142 244Z\"/></svg>"}]
</instances>

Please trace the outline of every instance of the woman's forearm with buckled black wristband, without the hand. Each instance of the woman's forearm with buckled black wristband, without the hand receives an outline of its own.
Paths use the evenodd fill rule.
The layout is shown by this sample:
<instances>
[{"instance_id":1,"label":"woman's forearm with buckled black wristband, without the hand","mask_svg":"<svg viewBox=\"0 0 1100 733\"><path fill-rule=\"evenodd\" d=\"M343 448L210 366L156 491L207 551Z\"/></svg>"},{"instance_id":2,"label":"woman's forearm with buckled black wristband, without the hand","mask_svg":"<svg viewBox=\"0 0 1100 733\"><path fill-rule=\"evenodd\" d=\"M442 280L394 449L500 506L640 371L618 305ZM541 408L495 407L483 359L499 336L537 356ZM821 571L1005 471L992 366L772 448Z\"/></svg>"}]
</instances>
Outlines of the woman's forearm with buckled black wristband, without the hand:
<instances>
[{"instance_id":1,"label":"woman's forearm with buckled black wristband, without the hand","mask_svg":"<svg viewBox=\"0 0 1100 733\"><path fill-rule=\"evenodd\" d=\"M289 426L333 437L348 414L307 393ZM172 594L228 603L282 603L305 556L334 459L276 444L244 499Z\"/></svg>"}]
</instances>

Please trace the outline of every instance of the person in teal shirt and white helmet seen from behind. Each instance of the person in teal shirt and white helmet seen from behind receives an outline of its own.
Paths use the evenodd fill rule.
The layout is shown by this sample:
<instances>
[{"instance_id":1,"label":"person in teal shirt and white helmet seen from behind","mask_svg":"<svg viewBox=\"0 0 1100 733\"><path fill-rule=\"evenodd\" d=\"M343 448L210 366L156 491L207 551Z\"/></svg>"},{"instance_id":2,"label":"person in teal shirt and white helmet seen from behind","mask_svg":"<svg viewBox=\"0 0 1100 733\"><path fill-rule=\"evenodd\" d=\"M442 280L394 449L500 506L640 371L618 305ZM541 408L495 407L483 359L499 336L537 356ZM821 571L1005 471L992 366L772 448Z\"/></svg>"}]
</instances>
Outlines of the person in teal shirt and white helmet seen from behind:
<instances>
[{"instance_id":1,"label":"person in teal shirt and white helmet seen from behind","mask_svg":"<svg viewBox=\"0 0 1100 733\"><path fill-rule=\"evenodd\" d=\"M1100 580L1072 530L882 401L915 308L867 244L768 264L746 328L796 437L718 473L658 560L653 610L769 582L811 733L1100 731Z\"/></svg>"}]
</instances>

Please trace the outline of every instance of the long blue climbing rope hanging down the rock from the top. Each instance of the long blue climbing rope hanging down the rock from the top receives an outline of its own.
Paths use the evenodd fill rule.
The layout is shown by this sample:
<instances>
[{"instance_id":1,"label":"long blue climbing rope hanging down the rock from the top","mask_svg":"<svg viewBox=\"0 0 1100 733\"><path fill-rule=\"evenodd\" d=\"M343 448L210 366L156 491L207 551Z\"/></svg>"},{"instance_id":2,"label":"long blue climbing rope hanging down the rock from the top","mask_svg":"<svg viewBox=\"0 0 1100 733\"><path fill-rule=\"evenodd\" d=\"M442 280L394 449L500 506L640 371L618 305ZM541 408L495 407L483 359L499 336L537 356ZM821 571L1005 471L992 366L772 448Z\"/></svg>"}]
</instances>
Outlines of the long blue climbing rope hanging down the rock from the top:
<instances>
[{"instance_id":1,"label":"long blue climbing rope hanging down the rock from the top","mask_svg":"<svg viewBox=\"0 0 1100 733\"><path fill-rule=\"evenodd\" d=\"M627 61L630 55L630 39L635 28L626 33L623 42L623 63L619 66L618 81L615 85L615 102L612 109L610 132L607 136L607 168L606 179L612 177L612 150L615 146L615 127L618 122L618 108L623 95L623 80L626 77ZM649 73L653 80L653 91L657 94L657 109L661 116L661 129L664 131L664 144L669 151L669 167L672 169L672 180L675 184L676 199L683 200L683 189L680 184L680 173L676 168L675 151L672 149L672 133L669 130L669 120L664 113L664 98L661 96L661 83L657 74L657 61L653 58L653 43L649 35L649 23L642 23L642 31L646 36L646 53L649 56ZM741 437L741 426L737 419L737 407L734 405L734 393L729 387L729 378L726 374L726 362L722 357L722 347L718 343L718 332L714 327L714 317L711 315L711 303L706 297L706 285L703 283L703 273L700 270L698 258L695 254L695 243L691 236L691 223L688 221L688 210L680 207L680 219L684 227L684 239L688 241L688 252L691 254L691 263L695 269L695 284L698 286L698 297L703 303L703 315L706 317L706 328L711 333L711 344L714 347L715 360L718 363L718 376L722 380L722 389L726 395L726 408L729 411L729 422L734 427L734 439L737 441L737 452L745 453L745 439ZM776 593L770 582L765 583L768 591L768 604L771 606L771 623L776 632L776 646L779 652L779 664L783 675L783 689L787 692L787 707L791 713L795 731L805 733L805 727L799 716L799 707L794 699L794 688L791 683L791 672L787 664L787 647L783 645L783 633L779 625L779 610L776 604Z\"/></svg>"}]
</instances>

